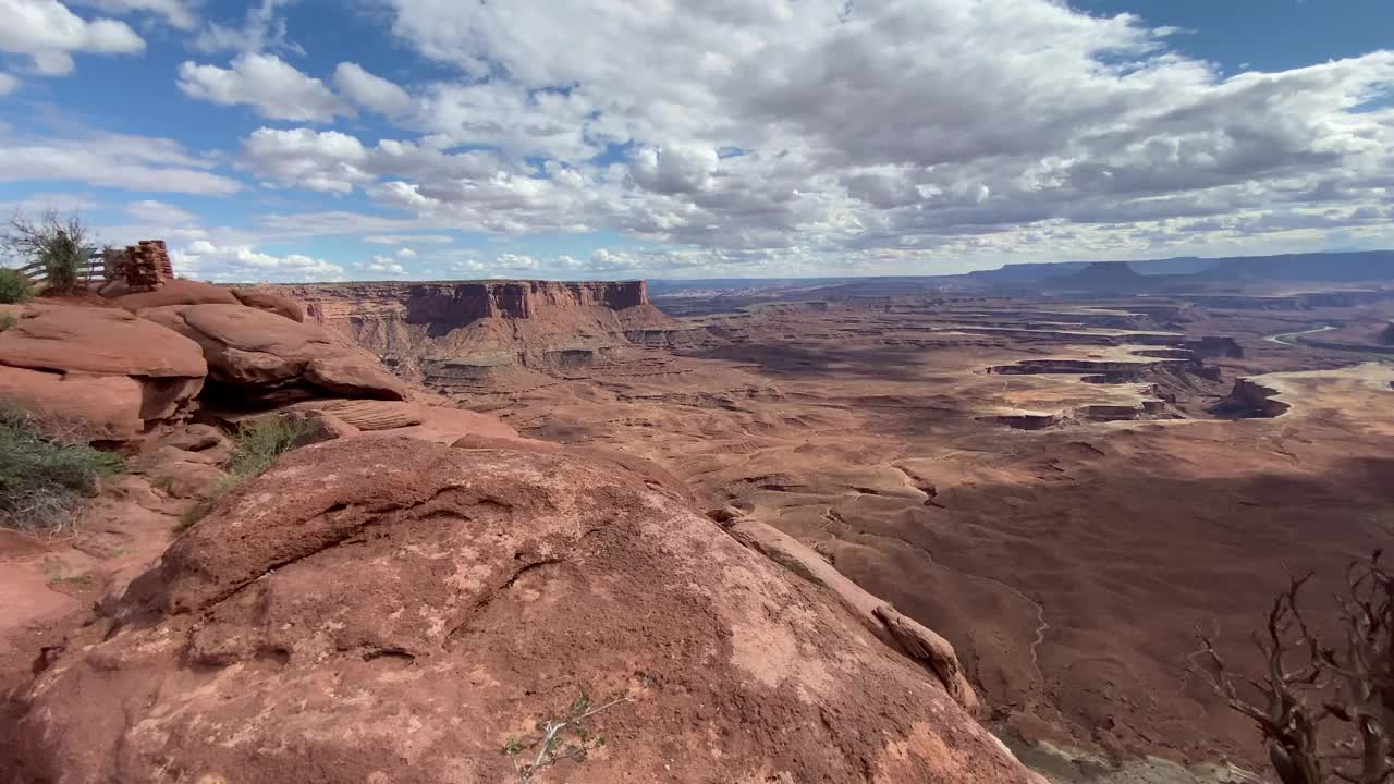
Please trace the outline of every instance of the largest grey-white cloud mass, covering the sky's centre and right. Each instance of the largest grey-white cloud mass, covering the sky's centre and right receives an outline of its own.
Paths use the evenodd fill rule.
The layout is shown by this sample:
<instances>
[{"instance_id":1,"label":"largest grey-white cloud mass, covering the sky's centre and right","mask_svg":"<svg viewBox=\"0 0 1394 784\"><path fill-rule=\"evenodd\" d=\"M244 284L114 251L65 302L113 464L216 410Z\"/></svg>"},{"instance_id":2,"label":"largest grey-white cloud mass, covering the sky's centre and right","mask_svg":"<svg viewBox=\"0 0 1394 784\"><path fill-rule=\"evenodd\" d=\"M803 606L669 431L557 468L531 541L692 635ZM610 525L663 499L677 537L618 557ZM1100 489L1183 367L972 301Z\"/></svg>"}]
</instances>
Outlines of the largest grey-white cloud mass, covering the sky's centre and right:
<instances>
[{"instance_id":1,"label":"largest grey-white cloud mass, covering the sky's centre and right","mask_svg":"<svg viewBox=\"0 0 1394 784\"><path fill-rule=\"evenodd\" d=\"M1294 232L1312 219L1232 219L1356 220L1394 181L1394 109L1372 103L1391 52L1225 77L1175 29L1050 0L390 6L400 39L473 77L420 88L417 149L498 167L376 162L354 187L441 226L881 268L1156 254L1220 216Z\"/></svg>"}]
</instances>

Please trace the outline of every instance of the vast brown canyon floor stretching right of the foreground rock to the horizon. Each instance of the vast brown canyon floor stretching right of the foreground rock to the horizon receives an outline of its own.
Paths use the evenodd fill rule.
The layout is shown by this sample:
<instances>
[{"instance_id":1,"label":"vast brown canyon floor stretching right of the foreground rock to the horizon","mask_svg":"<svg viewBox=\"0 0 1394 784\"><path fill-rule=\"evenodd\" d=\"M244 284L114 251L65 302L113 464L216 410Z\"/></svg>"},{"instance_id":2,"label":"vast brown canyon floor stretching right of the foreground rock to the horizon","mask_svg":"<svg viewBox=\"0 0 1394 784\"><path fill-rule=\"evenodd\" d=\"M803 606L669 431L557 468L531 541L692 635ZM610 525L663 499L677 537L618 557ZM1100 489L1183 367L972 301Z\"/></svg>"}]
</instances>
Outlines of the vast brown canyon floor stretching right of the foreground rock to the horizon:
<instances>
[{"instance_id":1,"label":"vast brown canyon floor stretching right of the foreground rock to the horizon","mask_svg":"<svg viewBox=\"0 0 1394 784\"><path fill-rule=\"evenodd\" d=\"M1252 661L1285 569L1316 569L1320 603L1390 540L1388 346L1303 339L1373 336L1394 303L815 294L659 299L686 315L531 359L453 343L489 372L427 382L814 547L948 638L1004 737L1262 770L1253 728L1189 674L1196 629ZM442 361L350 322L351 293L301 296L389 364Z\"/></svg>"}]
</instances>

